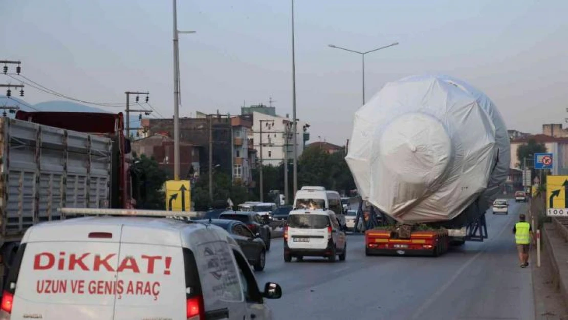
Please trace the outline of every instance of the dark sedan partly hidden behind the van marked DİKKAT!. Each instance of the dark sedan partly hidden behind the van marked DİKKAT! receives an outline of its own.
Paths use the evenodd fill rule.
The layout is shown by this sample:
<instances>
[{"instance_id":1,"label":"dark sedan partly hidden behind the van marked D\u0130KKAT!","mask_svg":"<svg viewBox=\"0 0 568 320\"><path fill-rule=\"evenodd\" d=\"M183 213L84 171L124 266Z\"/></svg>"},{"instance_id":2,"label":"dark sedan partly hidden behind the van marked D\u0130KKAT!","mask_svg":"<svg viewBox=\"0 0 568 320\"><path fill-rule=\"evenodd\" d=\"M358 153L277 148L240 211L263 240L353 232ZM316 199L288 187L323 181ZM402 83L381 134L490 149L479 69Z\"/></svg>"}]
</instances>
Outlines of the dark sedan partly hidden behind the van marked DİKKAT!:
<instances>
[{"instance_id":1,"label":"dark sedan partly hidden behind the van marked D\u0130KKAT!","mask_svg":"<svg viewBox=\"0 0 568 320\"><path fill-rule=\"evenodd\" d=\"M253 234L247 225L236 220L203 219L197 222L211 223L211 225L227 230L231 237L239 244L239 247L243 250L245 257L247 257L250 265L254 267L254 270L264 270L266 263L266 246L264 241L260 238L260 234Z\"/></svg>"}]
</instances>

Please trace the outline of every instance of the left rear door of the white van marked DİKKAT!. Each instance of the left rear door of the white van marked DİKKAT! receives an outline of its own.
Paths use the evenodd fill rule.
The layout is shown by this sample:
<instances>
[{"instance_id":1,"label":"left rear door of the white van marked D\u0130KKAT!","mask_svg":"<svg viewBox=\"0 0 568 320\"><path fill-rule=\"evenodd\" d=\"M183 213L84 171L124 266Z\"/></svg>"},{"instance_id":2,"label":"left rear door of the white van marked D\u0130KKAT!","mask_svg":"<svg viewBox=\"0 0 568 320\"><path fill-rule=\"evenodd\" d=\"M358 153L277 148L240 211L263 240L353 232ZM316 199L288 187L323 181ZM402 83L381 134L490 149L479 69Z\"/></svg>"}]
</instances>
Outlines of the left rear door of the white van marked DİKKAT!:
<instances>
[{"instance_id":1,"label":"left rear door of the white van marked D\u0130KKAT!","mask_svg":"<svg viewBox=\"0 0 568 320\"><path fill-rule=\"evenodd\" d=\"M11 318L112 319L120 233L112 225L32 229L6 286L15 286Z\"/></svg>"}]
</instances>

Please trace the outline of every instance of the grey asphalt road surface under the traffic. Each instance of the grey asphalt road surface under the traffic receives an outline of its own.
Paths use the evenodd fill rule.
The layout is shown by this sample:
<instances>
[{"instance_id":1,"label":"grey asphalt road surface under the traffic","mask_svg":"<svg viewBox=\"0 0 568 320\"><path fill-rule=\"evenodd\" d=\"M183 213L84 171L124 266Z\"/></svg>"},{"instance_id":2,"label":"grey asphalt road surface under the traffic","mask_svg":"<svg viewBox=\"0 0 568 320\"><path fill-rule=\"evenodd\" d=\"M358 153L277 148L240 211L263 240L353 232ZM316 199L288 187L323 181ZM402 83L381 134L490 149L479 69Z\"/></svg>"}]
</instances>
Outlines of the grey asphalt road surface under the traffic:
<instances>
[{"instance_id":1,"label":"grey asphalt road surface under the traffic","mask_svg":"<svg viewBox=\"0 0 568 320\"><path fill-rule=\"evenodd\" d=\"M353 234L346 261L284 263L283 240L274 239L257 280L282 286L281 299L266 300L274 319L532 320L531 269L519 267L511 231L526 210L511 202L509 215L489 211L489 239L441 257L367 257L363 236Z\"/></svg>"}]
</instances>

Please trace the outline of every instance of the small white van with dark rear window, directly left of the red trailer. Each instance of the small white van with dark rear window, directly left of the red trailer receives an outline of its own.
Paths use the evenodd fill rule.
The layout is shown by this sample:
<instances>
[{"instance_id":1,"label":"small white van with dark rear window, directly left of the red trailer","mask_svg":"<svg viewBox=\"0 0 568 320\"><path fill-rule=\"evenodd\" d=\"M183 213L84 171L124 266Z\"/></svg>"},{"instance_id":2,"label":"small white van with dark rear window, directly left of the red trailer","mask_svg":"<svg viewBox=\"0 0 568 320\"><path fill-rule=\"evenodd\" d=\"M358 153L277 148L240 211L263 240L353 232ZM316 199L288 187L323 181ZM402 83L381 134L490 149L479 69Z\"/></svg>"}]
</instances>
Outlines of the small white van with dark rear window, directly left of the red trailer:
<instances>
[{"instance_id":1,"label":"small white van with dark rear window, directly left of the red trailer","mask_svg":"<svg viewBox=\"0 0 568 320\"><path fill-rule=\"evenodd\" d=\"M327 257L329 261L344 261L347 255L347 238L331 210L290 211L284 227L284 261L292 257Z\"/></svg>"}]
</instances>

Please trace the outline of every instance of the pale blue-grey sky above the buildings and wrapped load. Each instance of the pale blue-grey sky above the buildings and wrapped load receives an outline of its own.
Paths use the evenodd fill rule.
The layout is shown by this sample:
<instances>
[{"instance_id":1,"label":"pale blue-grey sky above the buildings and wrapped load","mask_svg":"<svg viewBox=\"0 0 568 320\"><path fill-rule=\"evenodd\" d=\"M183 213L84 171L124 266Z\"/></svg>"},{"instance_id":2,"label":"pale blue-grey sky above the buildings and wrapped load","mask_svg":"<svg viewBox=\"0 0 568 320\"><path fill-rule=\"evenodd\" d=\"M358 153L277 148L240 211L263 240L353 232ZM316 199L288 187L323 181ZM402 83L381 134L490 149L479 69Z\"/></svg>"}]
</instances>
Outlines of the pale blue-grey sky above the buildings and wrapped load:
<instances>
[{"instance_id":1,"label":"pale blue-grey sky above the buildings and wrapped load","mask_svg":"<svg viewBox=\"0 0 568 320\"><path fill-rule=\"evenodd\" d=\"M0 59L80 99L123 102L149 90L173 113L172 1L0 0ZM343 144L361 106L388 81L445 73L487 93L508 128L540 132L568 117L568 1L296 0L298 118ZM178 0L181 115L238 114L244 102L292 110L290 0ZM0 83L12 81L0 76ZM26 101L59 99L26 89Z\"/></svg>"}]
</instances>

